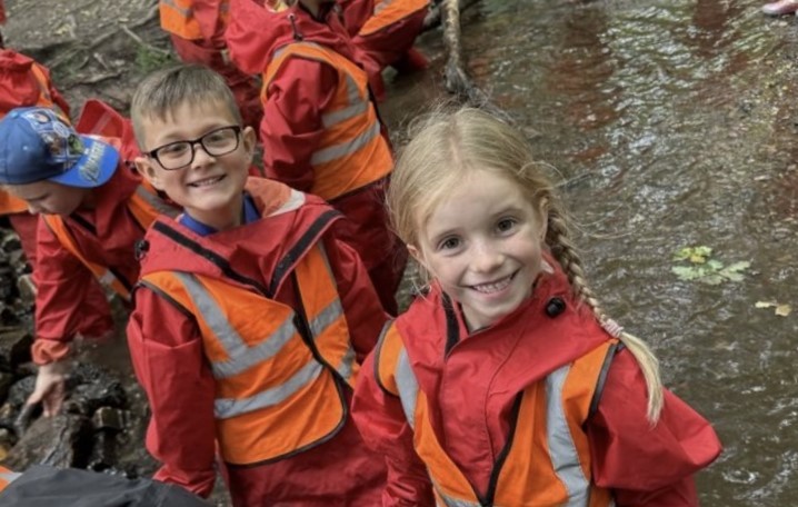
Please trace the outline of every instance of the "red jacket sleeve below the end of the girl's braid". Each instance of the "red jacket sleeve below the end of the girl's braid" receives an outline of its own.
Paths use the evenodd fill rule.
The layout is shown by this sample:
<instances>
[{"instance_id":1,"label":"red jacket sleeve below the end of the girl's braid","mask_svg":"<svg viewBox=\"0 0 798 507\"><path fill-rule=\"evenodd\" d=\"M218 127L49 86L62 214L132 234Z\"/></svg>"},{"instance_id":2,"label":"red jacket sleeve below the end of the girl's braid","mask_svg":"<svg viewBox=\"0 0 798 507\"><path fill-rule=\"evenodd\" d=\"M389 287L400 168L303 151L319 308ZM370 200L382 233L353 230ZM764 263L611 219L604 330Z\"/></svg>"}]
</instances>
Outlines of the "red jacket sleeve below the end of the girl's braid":
<instances>
[{"instance_id":1,"label":"red jacket sleeve below the end of the girl's braid","mask_svg":"<svg viewBox=\"0 0 798 507\"><path fill-rule=\"evenodd\" d=\"M634 356L612 361L597 412L587 424L593 480L624 506L698 506L692 475L721 450L709 422L665 390L656 426L646 419L648 396Z\"/></svg>"}]
</instances>

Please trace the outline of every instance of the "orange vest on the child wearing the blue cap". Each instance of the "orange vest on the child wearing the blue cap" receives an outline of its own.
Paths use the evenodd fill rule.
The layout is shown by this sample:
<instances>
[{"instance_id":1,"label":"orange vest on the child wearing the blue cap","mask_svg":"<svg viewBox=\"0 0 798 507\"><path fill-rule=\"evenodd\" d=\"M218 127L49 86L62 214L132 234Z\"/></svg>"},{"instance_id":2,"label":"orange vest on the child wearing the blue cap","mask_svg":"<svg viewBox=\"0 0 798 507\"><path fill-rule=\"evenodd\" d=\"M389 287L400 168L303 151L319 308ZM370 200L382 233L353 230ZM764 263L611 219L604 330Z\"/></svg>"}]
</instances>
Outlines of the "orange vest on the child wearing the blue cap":
<instances>
[{"instance_id":1,"label":"orange vest on the child wearing the blue cap","mask_svg":"<svg viewBox=\"0 0 798 507\"><path fill-rule=\"evenodd\" d=\"M136 189L136 192L130 196L127 206L130 213L136 218L136 221L139 222L141 228L144 230L147 230L150 223L152 223L159 215L174 217L179 212L173 205L163 200L147 180L142 180ZM41 217L44 219L44 222L48 225L56 238L58 238L63 248L77 257L87 268L89 268L100 284L117 292L126 301L130 300L129 288L119 278L117 278L108 266L101 266L97 262L92 262L83 256L74 241L72 233L69 231L69 227L67 227L61 216L42 215Z\"/></svg>"}]
</instances>

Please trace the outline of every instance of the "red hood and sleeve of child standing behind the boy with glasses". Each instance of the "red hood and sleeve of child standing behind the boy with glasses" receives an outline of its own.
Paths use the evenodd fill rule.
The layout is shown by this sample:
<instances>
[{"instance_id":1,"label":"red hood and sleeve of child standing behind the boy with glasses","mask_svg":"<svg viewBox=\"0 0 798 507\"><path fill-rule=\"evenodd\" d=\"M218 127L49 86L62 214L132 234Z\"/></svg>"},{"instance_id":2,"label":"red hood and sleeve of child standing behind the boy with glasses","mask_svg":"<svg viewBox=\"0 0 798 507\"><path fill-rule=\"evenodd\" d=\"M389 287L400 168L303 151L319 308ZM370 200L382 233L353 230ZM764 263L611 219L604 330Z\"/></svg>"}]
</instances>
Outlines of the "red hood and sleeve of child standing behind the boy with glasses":
<instances>
[{"instance_id":1,"label":"red hood and sleeve of child standing behind the boy with glasses","mask_svg":"<svg viewBox=\"0 0 798 507\"><path fill-rule=\"evenodd\" d=\"M252 0L231 0L225 32L230 58L243 72L261 74L275 51L301 40L332 49L362 67L372 80L379 66L352 43L340 9L335 3L321 9L321 20L317 20L299 3L272 12ZM260 131L263 165L298 190L310 188L310 157L323 133L321 111L332 100L337 84L335 69L308 59L292 59L270 84L269 95L275 99L263 105L268 120L261 122Z\"/></svg>"}]
</instances>

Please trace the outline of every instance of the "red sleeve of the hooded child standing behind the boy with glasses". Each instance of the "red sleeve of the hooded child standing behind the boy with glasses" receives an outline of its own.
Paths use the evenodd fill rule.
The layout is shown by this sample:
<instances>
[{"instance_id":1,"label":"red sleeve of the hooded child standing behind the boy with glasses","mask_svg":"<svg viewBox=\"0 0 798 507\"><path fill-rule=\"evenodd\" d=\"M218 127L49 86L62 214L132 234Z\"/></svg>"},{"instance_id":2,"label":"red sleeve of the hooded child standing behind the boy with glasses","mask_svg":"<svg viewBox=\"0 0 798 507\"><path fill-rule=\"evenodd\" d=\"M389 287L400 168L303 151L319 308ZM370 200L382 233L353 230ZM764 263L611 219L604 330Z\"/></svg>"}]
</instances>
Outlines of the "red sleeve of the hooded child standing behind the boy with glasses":
<instances>
[{"instance_id":1,"label":"red sleeve of the hooded child standing behind the boy with glasses","mask_svg":"<svg viewBox=\"0 0 798 507\"><path fill-rule=\"evenodd\" d=\"M310 191L310 158L325 133L321 113L332 100L338 76L326 63L290 58L269 83L260 140L266 176Z\"/></svg>"}]
</instances>

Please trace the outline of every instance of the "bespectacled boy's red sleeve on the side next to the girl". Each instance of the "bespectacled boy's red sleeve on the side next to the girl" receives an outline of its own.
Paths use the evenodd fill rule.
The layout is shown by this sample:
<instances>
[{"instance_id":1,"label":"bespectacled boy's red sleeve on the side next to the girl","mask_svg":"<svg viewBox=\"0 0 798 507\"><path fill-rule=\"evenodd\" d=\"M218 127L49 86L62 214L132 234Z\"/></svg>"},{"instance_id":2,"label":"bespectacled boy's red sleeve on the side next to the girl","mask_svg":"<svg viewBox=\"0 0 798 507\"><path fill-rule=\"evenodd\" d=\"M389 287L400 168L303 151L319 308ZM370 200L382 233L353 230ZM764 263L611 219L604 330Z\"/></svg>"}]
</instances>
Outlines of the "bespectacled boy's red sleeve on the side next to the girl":
<instances>
[{"instance_id":1,"label":"bespectacled boy's red sleeve on the side next to the girl","mask_svg":"<svg viewBox=\"0 0 798 507\"><path fill-rule=\"evenodd\" d=\"M358 362L362 364L377 345L388 315L382 309L360 256L352 247L329 235L325 247L338 285L352 347Z\"/></svg>"}]
</instances>

